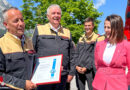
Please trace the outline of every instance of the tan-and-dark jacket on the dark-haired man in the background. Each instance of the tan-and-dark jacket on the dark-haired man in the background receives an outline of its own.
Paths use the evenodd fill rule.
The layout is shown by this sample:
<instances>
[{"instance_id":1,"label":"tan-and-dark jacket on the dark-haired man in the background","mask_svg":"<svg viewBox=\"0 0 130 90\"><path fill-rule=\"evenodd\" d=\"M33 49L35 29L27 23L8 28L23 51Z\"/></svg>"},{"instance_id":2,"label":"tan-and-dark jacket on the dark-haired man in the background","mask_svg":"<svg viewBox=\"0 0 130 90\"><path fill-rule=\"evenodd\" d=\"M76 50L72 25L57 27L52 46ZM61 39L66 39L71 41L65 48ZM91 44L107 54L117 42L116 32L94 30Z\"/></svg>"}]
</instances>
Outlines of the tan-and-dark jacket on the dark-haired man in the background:
<instances>
[{"instance_id":1,"label":"tan-and-dark jacket on the dark-haired man in the background","mask_svg":"<svg viewBox=\"0 0 130 90\"><path fill-rule=\"evenodd\" d=\"M80 37L76 48L76 66L85 67L87 71L96 72L94 64L94 47L99 35L94 32L87 37L85 34Z\"/></svg>"}]
</instances>

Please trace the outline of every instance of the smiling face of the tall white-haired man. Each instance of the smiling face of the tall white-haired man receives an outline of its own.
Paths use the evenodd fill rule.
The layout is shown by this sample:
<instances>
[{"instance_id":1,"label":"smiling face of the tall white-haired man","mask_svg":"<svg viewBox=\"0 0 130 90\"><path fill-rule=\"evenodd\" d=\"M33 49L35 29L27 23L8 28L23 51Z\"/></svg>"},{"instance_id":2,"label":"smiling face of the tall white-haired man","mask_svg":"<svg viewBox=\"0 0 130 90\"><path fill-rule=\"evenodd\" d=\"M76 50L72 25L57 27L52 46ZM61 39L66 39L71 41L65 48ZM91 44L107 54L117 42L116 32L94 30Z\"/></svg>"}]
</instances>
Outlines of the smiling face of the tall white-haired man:
<instances>
[{"instance_id":1,"label":"smiling face of the tall white-haired man","mask_svg":"<svg viewBox=\"0 0 130 90\"><path fill-rule=\"evenodd\" d=\"M61 20L61 10L58 7L50 8L49 14L47 15L49 22L53 26L59 26Z\"/></svg>"}]
</instances>

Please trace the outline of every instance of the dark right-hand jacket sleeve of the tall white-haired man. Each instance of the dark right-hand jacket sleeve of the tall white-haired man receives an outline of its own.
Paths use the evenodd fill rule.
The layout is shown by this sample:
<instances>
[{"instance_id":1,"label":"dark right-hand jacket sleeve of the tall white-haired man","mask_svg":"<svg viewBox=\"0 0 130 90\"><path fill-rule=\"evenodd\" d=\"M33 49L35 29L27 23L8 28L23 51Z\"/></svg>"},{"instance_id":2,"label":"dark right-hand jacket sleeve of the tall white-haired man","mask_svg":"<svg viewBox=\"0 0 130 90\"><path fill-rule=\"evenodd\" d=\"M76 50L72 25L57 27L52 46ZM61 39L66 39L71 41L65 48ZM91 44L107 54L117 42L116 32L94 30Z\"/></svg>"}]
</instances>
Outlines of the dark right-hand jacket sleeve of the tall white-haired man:
<instances>
[{"instance_id":1,"label":"dark right-hand jacket sleeve of the tall white-haired man","mask_svg":"<svg viewBox=\"0 0 130 90\"><path fill-rule=\"evenodd\" d=\"M70 71L69 71L69 75L75 75L75 59L74 59L74 53L75 53L75 44L74 42L72 41L72 38L70 38L70 50L69 50L69 53L70 53L70 64L69 64L69 67L70 67Z\"/></svg>"}]
</instances>

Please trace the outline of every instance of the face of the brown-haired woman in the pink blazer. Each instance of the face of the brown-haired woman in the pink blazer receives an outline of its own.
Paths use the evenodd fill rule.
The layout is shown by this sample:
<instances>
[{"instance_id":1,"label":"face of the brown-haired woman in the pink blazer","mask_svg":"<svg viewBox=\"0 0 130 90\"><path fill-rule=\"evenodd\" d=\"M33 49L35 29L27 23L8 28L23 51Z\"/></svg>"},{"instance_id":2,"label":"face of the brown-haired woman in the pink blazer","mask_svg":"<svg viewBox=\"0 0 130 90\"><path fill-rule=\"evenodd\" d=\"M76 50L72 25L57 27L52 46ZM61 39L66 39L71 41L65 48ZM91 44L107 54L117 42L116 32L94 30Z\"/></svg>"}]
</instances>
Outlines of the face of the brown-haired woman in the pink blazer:
<instances>
[{"instance_id":1,"label":"face of the brown-haired woman in the pink blazer","mask_svg":"<svg viewBox=\"0 0 130 90\"><path fill-rule=\"evenodd\" d=\"M111 23L110 23L110 21L106 20L104 22L104 30L105 30L106 38L109 39L110 34L111 34Z\"/></svg>"}]
</instances>

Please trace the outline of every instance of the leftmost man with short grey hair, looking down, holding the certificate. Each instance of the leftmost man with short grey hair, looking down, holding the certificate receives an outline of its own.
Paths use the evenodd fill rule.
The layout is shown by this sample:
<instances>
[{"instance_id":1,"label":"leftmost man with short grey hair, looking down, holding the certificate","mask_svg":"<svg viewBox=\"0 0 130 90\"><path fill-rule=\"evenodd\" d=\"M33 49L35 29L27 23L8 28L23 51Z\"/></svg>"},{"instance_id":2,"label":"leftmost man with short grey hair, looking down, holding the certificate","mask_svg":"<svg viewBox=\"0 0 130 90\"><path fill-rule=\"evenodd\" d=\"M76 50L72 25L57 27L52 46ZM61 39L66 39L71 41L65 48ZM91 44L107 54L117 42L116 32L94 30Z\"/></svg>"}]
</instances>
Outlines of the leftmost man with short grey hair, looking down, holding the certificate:
<instances>
[{"instance_id":1,"label":"leftmost man with short grey hair, looking down, holding the certificate","mask_svg":"<svg viewBox=\"0 0 130 90\"><path fill-rule=\"evenodd\" d=\"M0 76L13 89L33 89L33 45L24 35L22 13L14 7L3 11L6 34L0 38ZM8 88L9 89L9 88ZM11 88L10 88L11 89Z\"/></svg>"}]
</instances>

